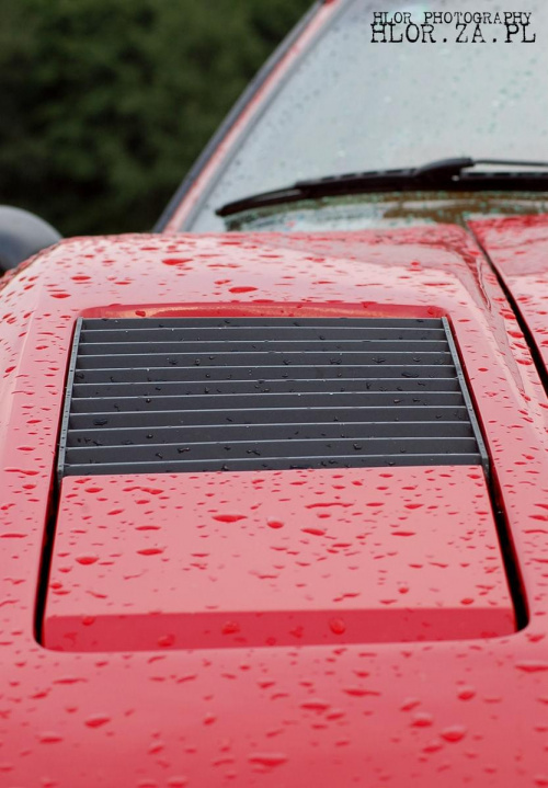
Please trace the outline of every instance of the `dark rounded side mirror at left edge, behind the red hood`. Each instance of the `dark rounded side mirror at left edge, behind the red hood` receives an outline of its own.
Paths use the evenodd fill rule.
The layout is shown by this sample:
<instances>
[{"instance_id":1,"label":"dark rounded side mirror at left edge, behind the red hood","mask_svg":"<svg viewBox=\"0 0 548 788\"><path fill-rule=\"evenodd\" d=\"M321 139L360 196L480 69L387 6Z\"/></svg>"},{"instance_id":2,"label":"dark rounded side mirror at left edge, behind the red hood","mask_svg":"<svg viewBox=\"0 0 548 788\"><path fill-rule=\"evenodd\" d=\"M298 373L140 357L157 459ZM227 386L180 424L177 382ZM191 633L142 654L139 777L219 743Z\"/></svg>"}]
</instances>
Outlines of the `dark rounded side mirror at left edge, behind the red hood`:
<instances>
[{"instance_id":1,"label":"dark rounded side mirror at left edge, behind the red hood","mask_svg":"<svg viewBox=\"0 0 548 788\"><path fill-rule=\"evenodd\" d=\"M0 205L0 275L60 240L57 230L38 216Z\"/></svg>"}]
</instances>

